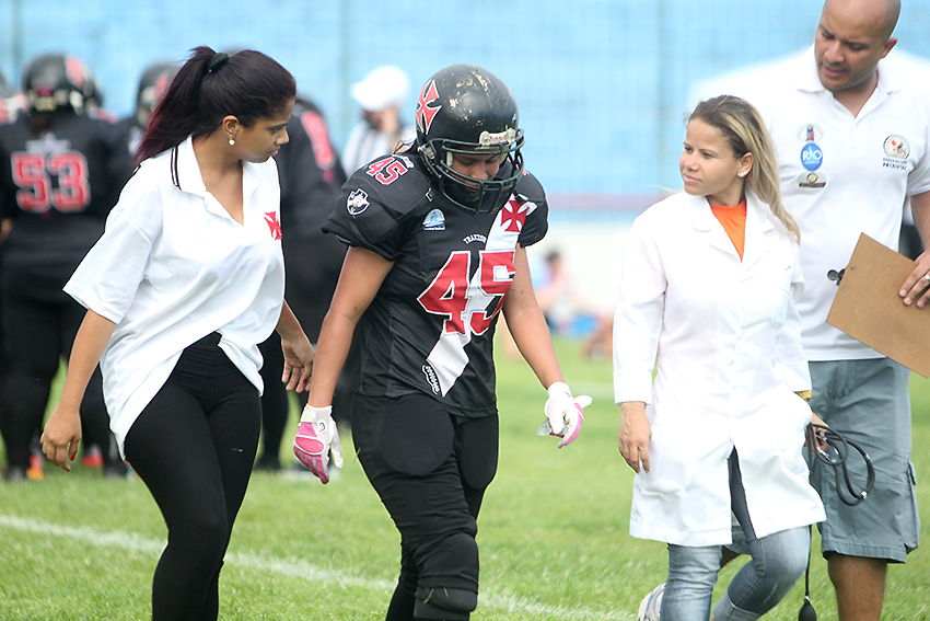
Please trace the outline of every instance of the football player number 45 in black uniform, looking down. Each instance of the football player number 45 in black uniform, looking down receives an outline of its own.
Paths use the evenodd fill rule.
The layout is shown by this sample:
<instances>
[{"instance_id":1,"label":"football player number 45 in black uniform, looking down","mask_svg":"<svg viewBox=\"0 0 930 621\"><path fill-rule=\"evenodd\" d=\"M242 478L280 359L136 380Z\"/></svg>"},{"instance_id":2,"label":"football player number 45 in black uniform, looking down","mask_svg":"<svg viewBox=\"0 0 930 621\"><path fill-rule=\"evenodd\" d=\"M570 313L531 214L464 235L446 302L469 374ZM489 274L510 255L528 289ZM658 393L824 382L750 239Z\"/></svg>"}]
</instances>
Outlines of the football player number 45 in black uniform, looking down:
<instances>
[{"instance_id":1,"label":"football player number 45 in black uniform, looking down","mask_svg":"<svg viewBox=\"0 0 930 621\"><path fill-rule=\"evenodd\" d=\"M350 248L323 323L294 450L325 483L341 462L332 396L353 332L359 460L400 531L387 620L466 620L477 605L476 518L497 470L492 338L503 311L548 388L545 432L571 442L572 398L533 295L525 246L546 198L523 171L516 103L493 73L453 65L423 87L417 141L359 169L324 229Z\"/></svg>"}]
</instances>

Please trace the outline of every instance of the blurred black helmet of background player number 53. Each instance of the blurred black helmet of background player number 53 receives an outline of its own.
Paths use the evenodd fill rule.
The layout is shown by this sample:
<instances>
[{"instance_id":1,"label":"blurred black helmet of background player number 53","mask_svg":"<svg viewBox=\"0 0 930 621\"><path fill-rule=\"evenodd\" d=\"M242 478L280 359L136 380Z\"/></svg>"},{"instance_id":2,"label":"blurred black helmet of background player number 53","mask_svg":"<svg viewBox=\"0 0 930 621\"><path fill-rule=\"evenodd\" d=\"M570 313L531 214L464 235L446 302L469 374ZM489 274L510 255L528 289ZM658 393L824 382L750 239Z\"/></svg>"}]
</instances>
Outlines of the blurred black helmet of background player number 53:
<instances>
[{"instance_id":1,"label":"blurred black helmet of background player number 53","mask_svg":"<svg viewBox=\"0 0 930 621\"><path fill-rule=\"evenodd\" d=\"M74 56L46 54L35 58L23 73L23 92L28 108L53 112L70 107L83 113L86 101L94 96L96 85L90 69Z\"/></svg>"}]
</instances>

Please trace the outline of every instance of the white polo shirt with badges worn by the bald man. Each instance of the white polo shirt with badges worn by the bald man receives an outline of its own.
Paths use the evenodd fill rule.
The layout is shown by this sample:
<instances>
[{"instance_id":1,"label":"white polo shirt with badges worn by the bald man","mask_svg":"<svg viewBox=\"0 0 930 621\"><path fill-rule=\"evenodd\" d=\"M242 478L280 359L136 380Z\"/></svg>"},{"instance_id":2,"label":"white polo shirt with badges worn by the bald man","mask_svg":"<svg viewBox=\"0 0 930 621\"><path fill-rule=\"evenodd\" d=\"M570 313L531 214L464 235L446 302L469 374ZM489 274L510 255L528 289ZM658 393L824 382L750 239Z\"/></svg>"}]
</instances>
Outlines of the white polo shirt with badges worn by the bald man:
<instances>
[{"instance_id":1,"label":"white polo shirt with badges worn by the bald man","mask_svg":"<svg viewBox=\"0 0 930 621\"><path fill-rule=\"evenodd\" d=\"M826 323L837 292L827 273L846 267L862 232L897 250L906 196L930 191L927 84L923 67L892 51L855 117L821 83L812 47L732 89L768 125L782 200L801 228L805 289L798 310L810 360L881 357Z\"/></svg>"}]
</instances>

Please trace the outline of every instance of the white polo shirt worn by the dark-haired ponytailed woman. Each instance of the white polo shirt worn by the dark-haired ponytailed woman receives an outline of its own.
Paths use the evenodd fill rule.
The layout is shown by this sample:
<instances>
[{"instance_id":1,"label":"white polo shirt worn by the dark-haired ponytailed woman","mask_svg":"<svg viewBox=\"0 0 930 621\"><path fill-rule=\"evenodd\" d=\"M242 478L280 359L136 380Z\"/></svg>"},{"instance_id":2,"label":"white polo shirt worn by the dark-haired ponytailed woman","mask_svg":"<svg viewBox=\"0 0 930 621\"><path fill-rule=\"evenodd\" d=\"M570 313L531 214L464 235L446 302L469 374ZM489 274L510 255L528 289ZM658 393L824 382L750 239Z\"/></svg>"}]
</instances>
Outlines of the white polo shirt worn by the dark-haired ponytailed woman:
<instances>
[{"instance_id":1,"label":"white polo shirt worn by the dark-haired ponytailed woman","mask_svg":"<svg viewBox=\"0 0 930 621\"><path fill-rule=\"evenodd\" d=\"M65 286L117 324L101 370L120 451L184 348L212 332L263 390L257 344L275 330L284 296L275 162L244 162L242 185L240 225L204 186L190 138L147 160Z\"/></svg>"}]
</instances>

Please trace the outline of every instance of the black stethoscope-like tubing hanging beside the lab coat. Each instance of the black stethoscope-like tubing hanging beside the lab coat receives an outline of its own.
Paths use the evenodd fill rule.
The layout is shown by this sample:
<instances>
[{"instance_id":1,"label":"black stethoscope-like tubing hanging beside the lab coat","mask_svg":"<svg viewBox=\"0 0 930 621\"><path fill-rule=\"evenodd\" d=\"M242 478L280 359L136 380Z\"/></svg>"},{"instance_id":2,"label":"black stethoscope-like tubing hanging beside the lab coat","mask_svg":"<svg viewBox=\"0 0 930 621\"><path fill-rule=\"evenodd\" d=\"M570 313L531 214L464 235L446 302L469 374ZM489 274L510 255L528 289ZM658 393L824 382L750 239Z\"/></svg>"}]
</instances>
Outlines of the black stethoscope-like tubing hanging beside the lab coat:
<instances>
[{"instance_id":1,"label":"black stethoscope-like tubing hanging beside the lab coat","mask_svg":"<svg viewBox=\"0 0 930 621\"><path fill-rule=\"evenodd\" d=\"M869 459L869 455L862 447L846 438L839 432L835 432L824 425L810 423L804 430L804 435L807 439L807 448L811 453L811 465L813 465L814 459L817 459L833 467L834 474L836 475L836 493L839 495L839 499L850 507L855 507L864 501L875 484L875 468L872 465L872 460ZM827 448L822 449L821 442L826 442ZM861 492L857 492L852 486L852 481L849 479L849 470L846 468L846 461L851 453L850 448L862 456L862 460L865 462L865 486L862 487ZM811 540L813 541L813 526L809 528L811 529ZM801 605L798 621L816 620L817 612L811 603L811 552L809 550L807 570L804 572L804 603Z\"/></svg>"}]
</instances>

